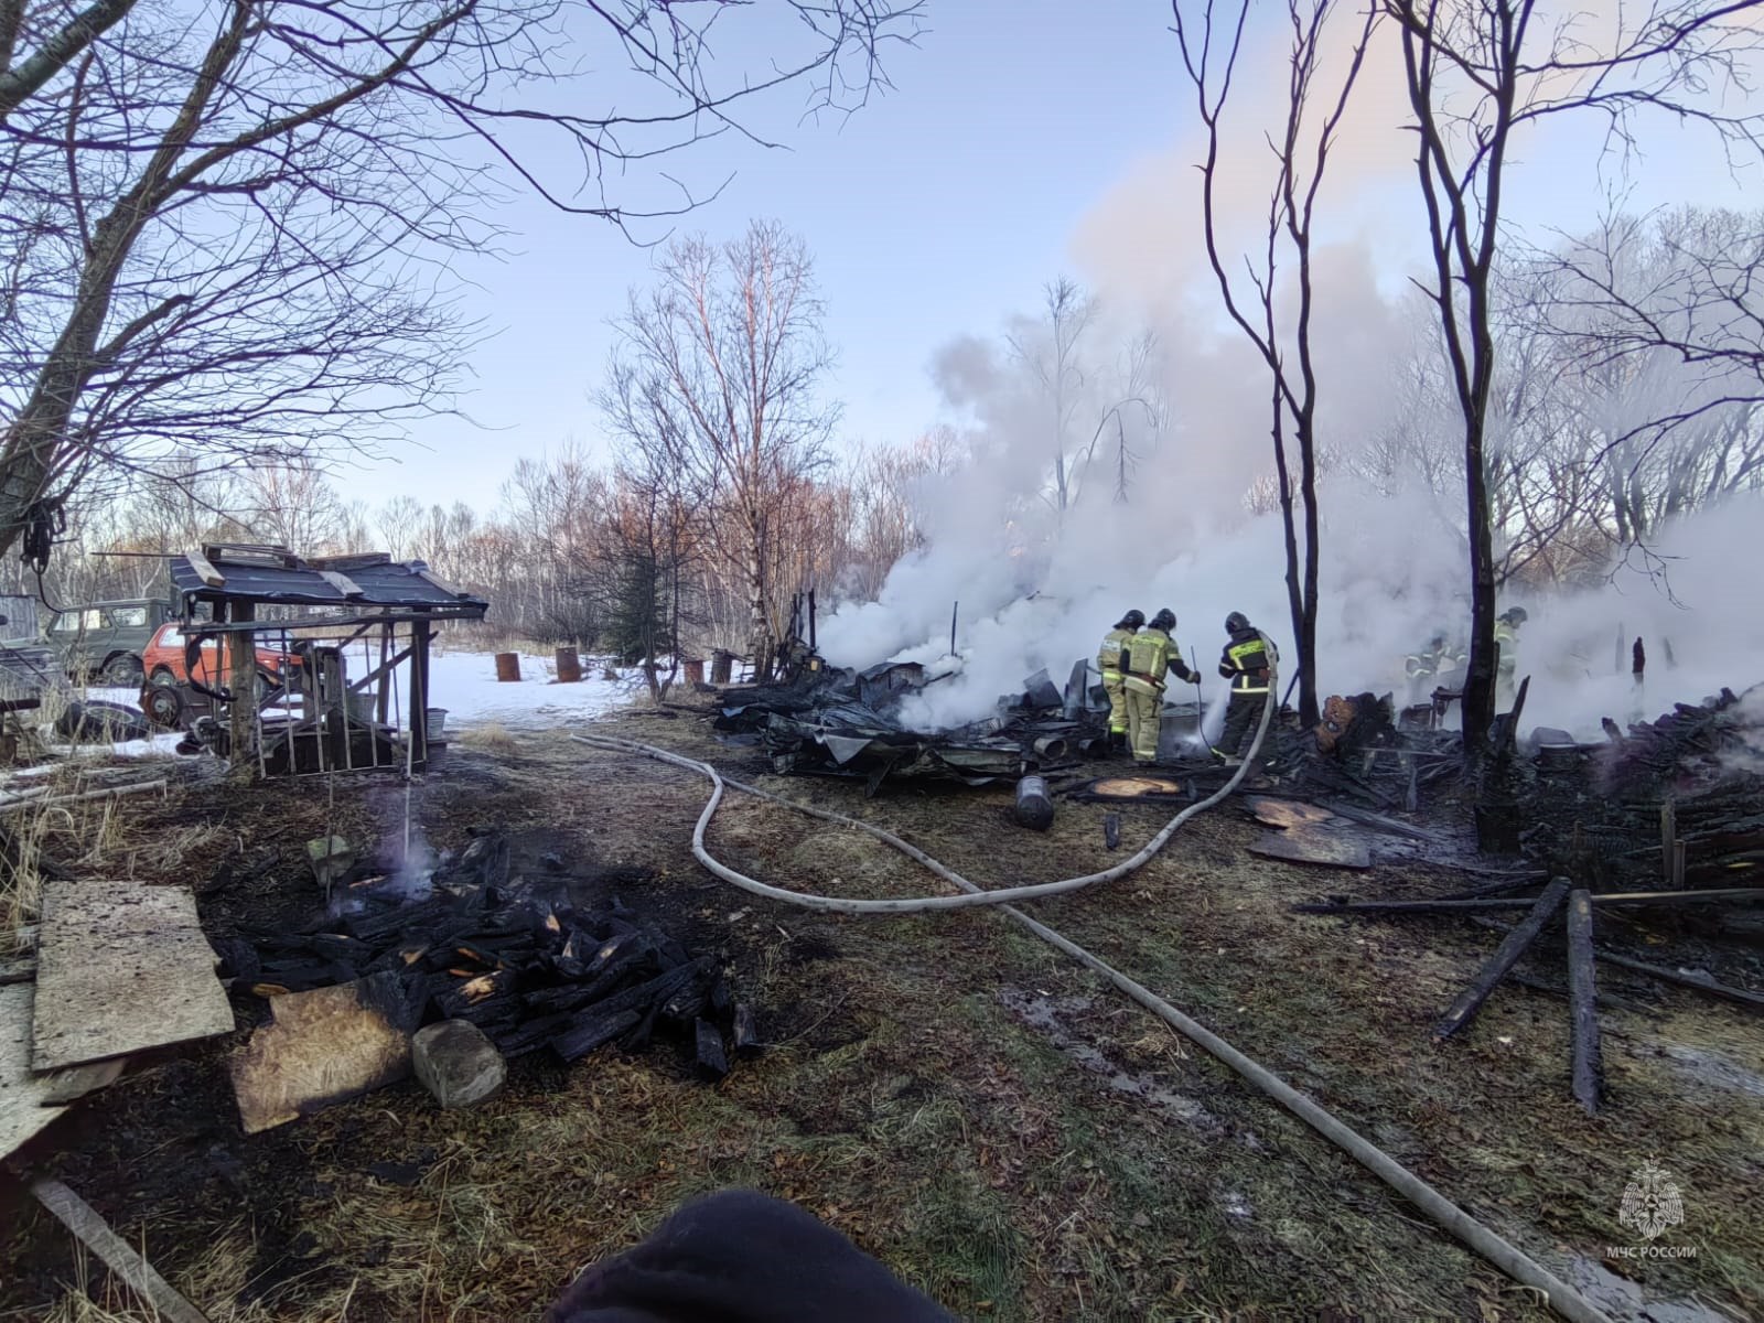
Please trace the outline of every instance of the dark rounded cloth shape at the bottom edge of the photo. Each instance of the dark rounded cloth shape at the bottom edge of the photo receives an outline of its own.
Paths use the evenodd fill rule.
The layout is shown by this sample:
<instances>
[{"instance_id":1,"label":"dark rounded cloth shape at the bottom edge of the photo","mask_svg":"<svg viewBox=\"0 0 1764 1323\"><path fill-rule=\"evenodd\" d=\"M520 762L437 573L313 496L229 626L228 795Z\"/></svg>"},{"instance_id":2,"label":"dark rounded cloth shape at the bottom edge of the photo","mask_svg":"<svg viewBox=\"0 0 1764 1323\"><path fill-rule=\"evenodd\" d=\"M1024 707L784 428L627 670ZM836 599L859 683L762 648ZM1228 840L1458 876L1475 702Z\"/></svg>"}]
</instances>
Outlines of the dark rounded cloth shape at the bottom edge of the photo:
<instances>
[{"instance_id":1,"label":"dark rounded cloth shape at the bottom edge of the photo","mask_svg":"<svg viewBox=\"0 0 1764 1323\"><path fill-rule=\"evenodd\" d=\"M954 1323L794 1203L730 1189L587 1268L543 1323Z\"/></svg>"}]
</instances>

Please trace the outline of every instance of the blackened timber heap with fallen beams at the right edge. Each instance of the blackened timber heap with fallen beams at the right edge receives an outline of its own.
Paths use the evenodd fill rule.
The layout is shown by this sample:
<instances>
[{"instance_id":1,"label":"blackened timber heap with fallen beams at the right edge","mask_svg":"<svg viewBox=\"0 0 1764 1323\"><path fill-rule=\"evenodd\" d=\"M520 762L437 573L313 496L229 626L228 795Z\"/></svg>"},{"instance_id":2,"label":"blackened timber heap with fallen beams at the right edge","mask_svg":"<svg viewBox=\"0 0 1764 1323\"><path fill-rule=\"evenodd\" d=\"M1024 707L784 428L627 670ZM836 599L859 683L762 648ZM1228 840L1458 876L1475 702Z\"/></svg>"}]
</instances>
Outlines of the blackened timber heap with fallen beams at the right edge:
<instances>
[{"instance_id":1,"label":"blackened timber heap with fallen beams at the right edge","mask_svg":"<svg viewBox=\"0 0 1764 1323\"><path fill-rule=\"evenodd\" d=\"M1512 861L1506 877L1450 896L1328 896L1295 908L1342 917L1455 916L1501 933L1441 1014L1434 1039L1466 1030L1503 979L1565 997L1568 1087L1596 1115L1603 1092L1598 1005L1637 1005L1633 997L1609 997L1598 968L1764 1013L1764 919L1757 914L1764 903L1764 686L1681 702L1655 721L1619 727L1607 718L1602 743L1536 729L1521 744L1512 730L1508 723L1498 732L1473 804L1478 845ZM1556 974L1514 974L1522 958L1551 949Z\"/></svg>"}]
</instances>

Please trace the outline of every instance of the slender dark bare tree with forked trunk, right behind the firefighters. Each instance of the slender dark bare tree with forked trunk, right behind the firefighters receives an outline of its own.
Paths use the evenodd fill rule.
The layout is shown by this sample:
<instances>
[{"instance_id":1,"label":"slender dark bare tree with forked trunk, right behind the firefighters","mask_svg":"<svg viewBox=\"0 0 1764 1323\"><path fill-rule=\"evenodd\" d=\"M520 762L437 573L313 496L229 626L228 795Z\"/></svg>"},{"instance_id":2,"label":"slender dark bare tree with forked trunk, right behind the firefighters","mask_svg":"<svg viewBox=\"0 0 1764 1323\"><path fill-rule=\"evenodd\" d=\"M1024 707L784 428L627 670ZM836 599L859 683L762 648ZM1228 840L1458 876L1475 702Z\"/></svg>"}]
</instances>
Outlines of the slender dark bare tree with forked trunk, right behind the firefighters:
<instances>
[{"instance_id":1,"label":"slender dark bare tree with forked trunk, right behind the firefighters","mask_svg":"<svg viewBox=\"0 0 1764 1323\"><path fill-rule=\"evenodd\" d=\"M1238 72L1249 0L1198 0L1171 5L1182 65L1194 85L1207 157L1201 162L1201 215L1207 258L1231 321L1244 332L1268 369L1274 467L1281 522L1286 533L1286 600L1293 621L1298 660L1298 714L1305 725L1318 721L1316 623L1318 623L1318 379L1311 353L1312 272L1311 247L1318 191L1328 169L1335 131L1348 97L1365 62L1365 49L1378 19L1369 5L1357 14L1335 0L1286 0L1291 30L1284 123L1268 136L1274 152L1274 183L1268 191L1263 247L1244 256L1244 273L1233 275L1221 249L1228 222L1219 215L1221 136L1231 81ZM1325 39L1346 11L1351 28L1348 60L1335 81L1325 67ZM1222 21L1215 23L1215 16ZM1235 266L1231 259L1231 266ZM1282 309L1282 280L1291 286L1295 307ZM1297 453L1297 482L1288 446Z\"/></svg>"}]
</instances>

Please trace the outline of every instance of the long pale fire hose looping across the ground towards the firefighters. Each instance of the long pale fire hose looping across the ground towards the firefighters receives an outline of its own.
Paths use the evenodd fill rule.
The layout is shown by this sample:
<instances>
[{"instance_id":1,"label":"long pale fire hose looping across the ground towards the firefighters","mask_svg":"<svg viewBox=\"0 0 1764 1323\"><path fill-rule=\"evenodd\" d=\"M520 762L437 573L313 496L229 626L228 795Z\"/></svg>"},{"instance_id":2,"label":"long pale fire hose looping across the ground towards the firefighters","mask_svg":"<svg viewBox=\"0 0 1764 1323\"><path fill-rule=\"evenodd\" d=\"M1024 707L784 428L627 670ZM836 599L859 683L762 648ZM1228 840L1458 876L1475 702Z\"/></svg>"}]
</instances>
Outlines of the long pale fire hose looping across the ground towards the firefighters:
<instances>
[{"instance_id":1,"label":"long pale fire hose looping across the ground towards the firefighters","mask_svg":"<svg viewBox=\"0 0 1764 1323\"><path fill-rule=\"evenodd\" d=\"M1192 818L1196 813L1201 813L1203 810L1217 804L1221 799L1231 794L1231 790L1235 790L1237 785L1244 780L1244 776L1249 773L1249 767L1254 764L1256 753L1261 750L1261 741L1267 736L1268 725L1274 720L1277 693L1279 690L1275 686L1275 676L1270 670L1268 697L1263 700L1261 721L1256 727L1256 737L1254 741L1251 741L1249 755L1244 759L1242 766L1237 769L1231 780L1228 780L1217 792L1177 813L1168 824L1164 824L1162 831L1159 831L1131 859L1117 864L1115 868L1108 868L1101 873L1088 873L1085 877L1073 877L1058 882L1043 882L1027 887L1002 887L997 891L981 889L979 886L968 882L954 870L947 868L946 864L928 856L924 850L917 848L916 845L910 845L908 841L903 841L900 836L884 831L882 827L861 822L843 813L834 813L831 810L815 808L811 804L801 804L794 799L771 794L769 790L760 790L759 787L753 785L743 785L741 781L727 780L707 762L699 762L697 759L688 759L681 753L672 753L669 750L656 748L654 744L642 744L639 741L619 739L616 736L572 734L570 737L577 743L591 744L596 748L607 748L623 753L640 753L644 757L656 759L658 762L667 762L676 767L686 767L690 771L700 773L702 776L707 776L711 780L713 792L711 799L704 806L704 811L699 813L697 824L693 826L691 852L699 859L699 863L704 864L711 873L723 878L725 882L730 882L732 886L741 887L743 891L750 891L757 896L766 896L769 900L780 900L789 905L799 905L803 908L831 910L836 914L921 914L926 910L954 910L954 908L968 908L974 905L1002 905L1004 912L1013 921L1016 921L1018 924L1032 931L1035 937L1053 946L1055 949L1071 956L1085 968L1102 975L1111 984L1115 984L1115 988L1118 988L1134 1002L1138 1002L1147 1011L1155 1014L1159 1020L1168 1023L1171 1028L1187 1037L1191 1043L1196 1043L1212 1057L1230 1065L1233 1071L1237 1071L1238 1076L1242 1076L1251 1085L1259 1088L1263 1094L1272 1097L1275 1102L1279 1102L1289 1113L1298 1117L1325 1140L1328 1140L1337 1148L1353 1157L1357 1162L1360 1162L1367 1171L1371 1171L1387 1185L1390 1185L1397 1194L1401 1194L1411 1205L1427 1214L1427 1217L1432 1219L1432 1222L1439 1226L1443 1231L1455 1237L1461 1244L1464 1244L1466 1247L1485 1258L1489 1263L1505 1272L1521 1286L1528 1286L1538 1291L1545 1298L1549 1307L1554 1309L1558 1314L1561 1314L1566 1319L1572 1319L1573 1323L1612 1323L1611 1316L1605 1314L1596 1304L1588 1300L1581 1291L1577 1291L1568 1282L1556 1277L1549 1268L1545 1268L1542 1263L1528 1256L1517 1245L1510 1244L1508 1240L1494 1233L1489 1226L1478 1222L1468 1212L1452 1203L1452 1200L1448 1200L1445 1194L1436 1191L1425 1180L1422 1180L1406 1166L1390 1157L1390 1154L1387 1154L1378 1145L1360 1136L1357 1131L1349 1129L1344 1122L1337 1120L1330 1111L1312 1102L1305 1094L1300 1094L1297 1088L1288 1085L1284 1080L1281 1080L1277 1074L1268 1071L1259 1062L1245 1057L1242 1051L1233 1048L1222 1037L1219 1037L1200 1021L1178 1011L1175 1005L1171 1005L1162 997L1148 990L1145 984L1127 977L1120 970L1113 968L1106 961L1085 951L1076 942L1067 940L1053 928L1048 928L1046 924L1030 919L1027 914L1023 914L1011 903L1020 900L1060 896L1071 891L1080 891L1083 887L1095 886L1099 882L1113 882L1134 871L1148 859L1152 859L1152 856L1155 856L1170 841L1170 838L1177 833L1178 827L1182 827L1184 822ZM774 804L783 804L785 808L794 808L799 813L806 813L808 817L820 818L824 822L833 822L841 827L856 827L857 831L873 836L884 845L900 850L908 859L924 864L924 868L928 868L937 877L954 886L963 894L912 896L907 900L856 900L841 896L818 896L813 893L774 887L767 886L766 882L759 882L757 878L746 877L744 873L737 873L736 870L725 866L716 857L713 857L704 845L704 831L709 826L711 817L721 804L725 789L741 790L743 794L750 794L757 799L766 799Z\"/></svg>"}]
</instances>

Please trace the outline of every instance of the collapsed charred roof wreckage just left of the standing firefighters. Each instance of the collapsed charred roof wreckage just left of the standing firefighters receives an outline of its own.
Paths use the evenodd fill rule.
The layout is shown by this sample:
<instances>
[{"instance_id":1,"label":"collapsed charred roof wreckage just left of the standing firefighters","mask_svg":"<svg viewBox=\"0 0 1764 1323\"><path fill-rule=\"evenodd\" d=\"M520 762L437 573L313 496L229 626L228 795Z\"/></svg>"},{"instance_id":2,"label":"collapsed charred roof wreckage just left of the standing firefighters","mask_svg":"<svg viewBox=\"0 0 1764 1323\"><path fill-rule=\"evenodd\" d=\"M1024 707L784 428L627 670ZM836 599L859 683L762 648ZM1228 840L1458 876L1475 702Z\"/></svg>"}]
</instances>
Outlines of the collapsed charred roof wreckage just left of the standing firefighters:
<instances>
[{"instance_id":1,"label":"collapsed charred roof wreckage just left of the standing firefighters","mask_svg":"<svg viewBox=\"0 0 1764 1323\"><path fill-rule=\"evenodd\" d=\"M889 780L986 785L1069 766L1069 755L1090 751L1102 734L1076 669L1076 693L1071 683L1062 693L1039 670L1023 693L998 700L997 716L938 734L908 730L901 702L947 674L928 676L916 662L804 670L790 684L727 690L716 729L730 743L767 750L780 774L864 778L871 796Z\"/></svg>"}]
</instances>

